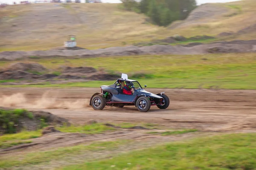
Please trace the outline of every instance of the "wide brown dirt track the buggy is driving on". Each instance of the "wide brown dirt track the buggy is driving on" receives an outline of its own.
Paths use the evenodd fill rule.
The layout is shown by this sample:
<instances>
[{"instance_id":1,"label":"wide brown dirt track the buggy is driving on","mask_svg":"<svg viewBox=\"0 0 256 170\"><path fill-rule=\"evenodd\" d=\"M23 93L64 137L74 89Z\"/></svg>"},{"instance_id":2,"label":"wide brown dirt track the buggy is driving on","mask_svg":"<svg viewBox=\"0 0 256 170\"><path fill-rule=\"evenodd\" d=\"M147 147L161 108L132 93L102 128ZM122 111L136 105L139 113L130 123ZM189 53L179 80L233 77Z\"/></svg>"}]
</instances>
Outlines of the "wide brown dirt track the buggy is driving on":
<instances>
[{"instance_id":1,"label":"wide brown dirt track the buggy is driving on","mask_svg":"<svg viewBox=\"0 0 256 170\"><path fill-rule=\"evenodd\" d=\"M44 94L47 91L48 93ZM165 91L171 100L169 108L160 110L151 107L147 113L140 113L133 106L122 109L106 107L103 111L94 111L88 106L88 102L92 94L99 92L98 88L52 91L47 88L2 88L0 94L9 96L23 93L24 96L19 94L20 96L9 97L9 106L49 111L75 124L83 124L94 119L98 122L151 122L172 128L197 128L206 131L256 128L256 91L205 89L148 89L148 91L153 93ZM17 98L22 99L17 100ZM4 106L8 106L8 101ZM33 102L37 103L36 107Z\"/></svg>"}]
</instances>

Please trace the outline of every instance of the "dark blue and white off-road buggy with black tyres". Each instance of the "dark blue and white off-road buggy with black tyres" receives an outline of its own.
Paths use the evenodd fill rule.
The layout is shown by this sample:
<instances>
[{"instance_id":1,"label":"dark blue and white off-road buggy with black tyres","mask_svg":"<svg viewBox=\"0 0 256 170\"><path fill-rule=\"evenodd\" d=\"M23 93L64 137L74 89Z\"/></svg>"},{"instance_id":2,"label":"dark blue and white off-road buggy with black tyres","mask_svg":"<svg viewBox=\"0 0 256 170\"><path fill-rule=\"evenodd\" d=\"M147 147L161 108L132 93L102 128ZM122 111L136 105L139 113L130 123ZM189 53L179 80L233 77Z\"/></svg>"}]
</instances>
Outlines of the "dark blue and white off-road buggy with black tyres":
<instances>
[{"instance_id":1,"label":"dark blue and white off-road buggy with black tyres","mask_svg":"<svg viewBox=\"0 0 256 170\"><path fill-rule=\"evenodd\" d=\"M124 82L131 84L133 94L123 94ZM145 88L147 85L145 85ZM93 94L89 105L94 110L102 110L105 106L123 108L134 105L140 112L147 112L151 106L166 109L169 106L169 98L164 94L152 94L145 91L136 80L128 79L127 74L122 74L113 85L100 86L101 93Z\"/></svg>"}]
</instances>

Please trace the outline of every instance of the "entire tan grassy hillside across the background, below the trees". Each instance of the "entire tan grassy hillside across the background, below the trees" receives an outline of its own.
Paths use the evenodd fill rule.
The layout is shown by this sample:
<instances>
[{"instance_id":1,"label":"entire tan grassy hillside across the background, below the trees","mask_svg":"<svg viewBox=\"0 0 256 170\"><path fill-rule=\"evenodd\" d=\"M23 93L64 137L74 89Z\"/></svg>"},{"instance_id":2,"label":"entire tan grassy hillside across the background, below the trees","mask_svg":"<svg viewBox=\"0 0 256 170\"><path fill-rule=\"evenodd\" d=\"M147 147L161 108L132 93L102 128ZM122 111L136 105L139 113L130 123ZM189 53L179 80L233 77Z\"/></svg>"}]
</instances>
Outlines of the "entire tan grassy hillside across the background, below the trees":
<instances>
[{"instance_id":1,"label":"entire tan grassy hillside across the background, below the trees","mask_svg":"<svg viewBox=\"0 0 256 170\"><path fill-rule=\"evenodd\" d=\"M167 28L151 25L143 14L123 11L118 4L30 4L0 11L0 51L34 51L63 45L76 34L78 46L87 49L132 45L180 34L217 36L217 40L256 37L254 0L205 4L184 21ZM236 34L239 32L239 34ZM217 41L216 40L216 41Z\"/></svg>"}]
</instances>

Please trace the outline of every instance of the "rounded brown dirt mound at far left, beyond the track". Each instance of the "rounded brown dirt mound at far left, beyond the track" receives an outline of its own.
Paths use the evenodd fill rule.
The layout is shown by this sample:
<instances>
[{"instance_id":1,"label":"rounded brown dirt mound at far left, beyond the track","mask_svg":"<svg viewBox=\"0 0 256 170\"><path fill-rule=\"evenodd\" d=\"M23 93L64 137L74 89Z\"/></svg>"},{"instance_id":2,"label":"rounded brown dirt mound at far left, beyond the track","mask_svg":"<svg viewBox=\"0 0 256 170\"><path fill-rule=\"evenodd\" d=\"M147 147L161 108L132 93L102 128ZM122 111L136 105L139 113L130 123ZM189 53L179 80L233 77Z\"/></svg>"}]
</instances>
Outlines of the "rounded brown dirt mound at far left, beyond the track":
<instances>
[{"instance_id":1,"label":"rounded brown dirt mound at far left, beyond the track","mask_svg":"<svg viewBox=\"0 0 256 170\"><path fill-rule=\"evenodd\" d=\"M41 72L46 71L47 69L44 68L43 65L40 65L38 63L13 63L9 66L8 70L15 70L15 71L35 71L35 72Z\"/></svg>"}]
</instances>

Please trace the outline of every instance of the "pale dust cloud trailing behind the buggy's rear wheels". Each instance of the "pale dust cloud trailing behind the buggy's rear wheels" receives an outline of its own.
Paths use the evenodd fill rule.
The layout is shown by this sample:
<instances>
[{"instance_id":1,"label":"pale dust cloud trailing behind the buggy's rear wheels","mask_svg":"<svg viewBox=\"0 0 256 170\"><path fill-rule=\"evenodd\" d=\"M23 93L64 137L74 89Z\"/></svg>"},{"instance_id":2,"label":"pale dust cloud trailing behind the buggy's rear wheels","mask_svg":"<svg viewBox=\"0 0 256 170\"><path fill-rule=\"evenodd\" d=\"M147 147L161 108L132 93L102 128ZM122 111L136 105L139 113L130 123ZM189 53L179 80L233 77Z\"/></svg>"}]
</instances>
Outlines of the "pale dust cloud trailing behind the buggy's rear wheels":
<instances>
[{"instance_id":1,"label":"pale dust cloud trailing behind the buggy's rear wheels","mask_svg":"<svg viewBox=\"0 0 256 170\"><path fill-rule=\"evenodd\" d=\"M60 101L58 95L51 96L51 91L46 91L40 98L29 100L23 93L16 93L0 97L0 106L28 109L82 109L89 107L89 99L78 99Z\"/></svg>"}]
</instances>

